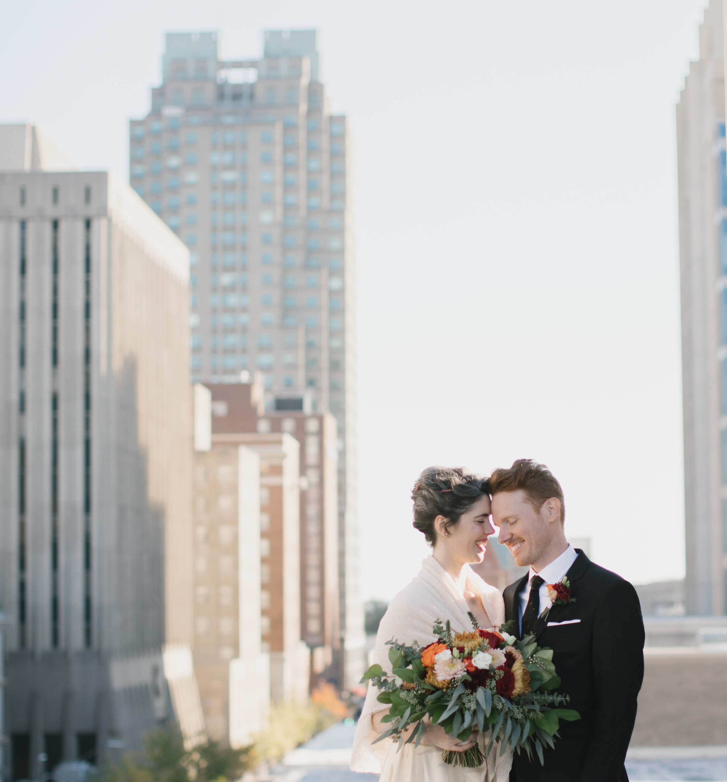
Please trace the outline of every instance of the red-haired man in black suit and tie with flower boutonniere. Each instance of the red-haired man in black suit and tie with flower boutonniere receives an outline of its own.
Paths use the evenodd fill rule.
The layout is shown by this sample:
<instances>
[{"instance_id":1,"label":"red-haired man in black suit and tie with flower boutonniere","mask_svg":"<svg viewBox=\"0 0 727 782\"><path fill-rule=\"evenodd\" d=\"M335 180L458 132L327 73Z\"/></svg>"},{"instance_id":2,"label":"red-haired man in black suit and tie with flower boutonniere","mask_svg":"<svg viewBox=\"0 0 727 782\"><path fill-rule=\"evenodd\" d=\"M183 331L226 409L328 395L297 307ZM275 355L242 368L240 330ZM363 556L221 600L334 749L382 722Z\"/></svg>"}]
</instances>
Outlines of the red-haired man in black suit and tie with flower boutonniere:
<instances>
[{"instance_id":1,"label":"red-haired man in black suit and tie with flower boutonniere","mask_svg":"<svg viewBox=\"0 0 727 782\"><path fill-rule=\"evenodd\" d=\"M560 722L545 766L535 752L513 757L511 782L628 782L624 759L644 672L644 626L634 587L570 547L563 532L563 490L544 465L519 459L490 479L492 523L516 565L529 570L506 588L505 618L518 637L552 647L552 662L581 719ZM551 606L548 584L566 576Z\"/></svg>"}]
</instances>

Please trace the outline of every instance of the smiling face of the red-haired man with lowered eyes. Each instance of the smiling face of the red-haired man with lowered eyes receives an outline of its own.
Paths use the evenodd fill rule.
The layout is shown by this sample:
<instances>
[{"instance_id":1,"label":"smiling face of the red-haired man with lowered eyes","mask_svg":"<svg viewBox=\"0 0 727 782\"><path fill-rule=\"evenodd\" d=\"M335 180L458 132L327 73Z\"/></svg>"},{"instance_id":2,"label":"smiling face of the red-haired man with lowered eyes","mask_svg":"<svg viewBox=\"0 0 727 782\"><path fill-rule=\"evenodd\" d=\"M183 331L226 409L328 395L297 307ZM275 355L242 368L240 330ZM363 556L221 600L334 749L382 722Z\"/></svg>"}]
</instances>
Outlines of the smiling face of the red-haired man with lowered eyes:
<instances>
[{"instance_id":1,"label":"smiling face of the red-haired man with lowered eyes","mask_svg":"<svg viewBox=\"0 0 727 782\"><path fill-rule=\"evenodd\" d=\"M560 521L549 522L543 508L536 511L522 489L498 492L492 497L491 506L492 523L500 529L498 543L509 548L515 564L527 567L538 562L557 533Z\"/></svg>"}]
</instances>

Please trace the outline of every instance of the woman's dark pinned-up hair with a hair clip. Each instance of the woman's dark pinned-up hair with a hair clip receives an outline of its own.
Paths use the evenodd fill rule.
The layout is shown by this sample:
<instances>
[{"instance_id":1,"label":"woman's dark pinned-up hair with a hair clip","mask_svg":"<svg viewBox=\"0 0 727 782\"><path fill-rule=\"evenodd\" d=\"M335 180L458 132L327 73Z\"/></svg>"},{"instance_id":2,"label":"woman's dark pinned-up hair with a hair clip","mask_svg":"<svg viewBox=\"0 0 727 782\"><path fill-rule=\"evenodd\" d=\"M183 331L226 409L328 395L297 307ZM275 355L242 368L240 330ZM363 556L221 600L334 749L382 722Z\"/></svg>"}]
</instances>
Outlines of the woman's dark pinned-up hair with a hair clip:
<instances>
[{"instance_id":1,"label":"woman's dark pinned-up hair with a hair clip","mask_svg":"<svg viewBox=\"0 0 727 782\"><path fill-rule=\"evenodd\" d=\"M445 529L455 526L459 517L490 493L490 479L473 475L463 467L427 467L412 490L414 526L434 546L437 532L434 519L448 519Z\"/></svg>"}]
</instances>

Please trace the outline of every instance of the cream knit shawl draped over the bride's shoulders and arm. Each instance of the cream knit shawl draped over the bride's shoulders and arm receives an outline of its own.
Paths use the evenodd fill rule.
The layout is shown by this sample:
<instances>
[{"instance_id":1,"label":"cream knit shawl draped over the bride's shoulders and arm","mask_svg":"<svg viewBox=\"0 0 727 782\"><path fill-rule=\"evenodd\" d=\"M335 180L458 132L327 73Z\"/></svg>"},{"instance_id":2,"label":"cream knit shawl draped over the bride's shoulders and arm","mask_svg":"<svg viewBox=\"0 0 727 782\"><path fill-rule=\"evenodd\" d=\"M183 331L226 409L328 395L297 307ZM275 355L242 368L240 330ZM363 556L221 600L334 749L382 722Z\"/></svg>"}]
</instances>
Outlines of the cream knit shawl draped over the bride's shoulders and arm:
<instances>
[{"instance_id":1,"label":"cream knit shawl draped over the bride's shoulders and arm","mask_svg":"<svg viewBox=\"0 0 727 782\"><path fill-rule=\"evenodd\" d=\"M502 625L502 622L505 622L505 604L502 595L495 587L480 579L469 565L466 568L469 571L466 589L480 595L490 625L492 627ZM435 619L441 619L442 623L449 619L455 633L472 630L472 622L467 615L469 610L464 597L455 587L452 576L430 555L423 560L419 575L394 597L383 615L379 632L376 633L373 662L381 665L387 673L391 673L389 662L391 647L386 645L387 640L398 640L404 644L411 644L416 640L422 646L426 646L437 640L432 633ZM380 773L381 764L387 755L389 748L387 739L377 744L371 743L378 735L372 727L372 716L376 712L388 711L389 708L387 704L376 700L378 694L376 687L369 687L366 694L351 754L351 769L354 771ZM493 748L488 758L488 782L507 780L509 774L511 753L506 752L502 758L496 759L495 754L496 748Z\"/></svg>"}]
</instances>

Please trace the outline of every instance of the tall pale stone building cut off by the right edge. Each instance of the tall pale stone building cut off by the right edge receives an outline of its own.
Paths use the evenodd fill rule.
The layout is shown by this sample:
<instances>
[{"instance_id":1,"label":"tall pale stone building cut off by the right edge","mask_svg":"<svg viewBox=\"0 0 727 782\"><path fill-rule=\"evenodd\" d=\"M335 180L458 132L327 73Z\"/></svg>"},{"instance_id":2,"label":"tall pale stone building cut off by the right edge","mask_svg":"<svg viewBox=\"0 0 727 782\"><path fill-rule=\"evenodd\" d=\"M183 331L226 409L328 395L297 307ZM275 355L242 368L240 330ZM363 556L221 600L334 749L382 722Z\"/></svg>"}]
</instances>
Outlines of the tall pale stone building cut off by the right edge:
<instances>
[{"instance_id":1,"label":"tall pale stone building cut off by the right edge","mask_svg":"<svg viewBox=\"0 0 727 782\"><path fill-rule=\"evenodd\" d=\"M686 611L727 612L727 152L722 2L677 106Z\"/></svg>"}]
</instances>

